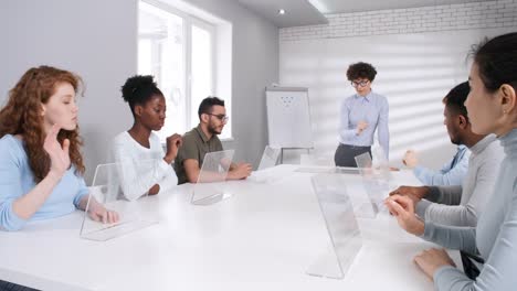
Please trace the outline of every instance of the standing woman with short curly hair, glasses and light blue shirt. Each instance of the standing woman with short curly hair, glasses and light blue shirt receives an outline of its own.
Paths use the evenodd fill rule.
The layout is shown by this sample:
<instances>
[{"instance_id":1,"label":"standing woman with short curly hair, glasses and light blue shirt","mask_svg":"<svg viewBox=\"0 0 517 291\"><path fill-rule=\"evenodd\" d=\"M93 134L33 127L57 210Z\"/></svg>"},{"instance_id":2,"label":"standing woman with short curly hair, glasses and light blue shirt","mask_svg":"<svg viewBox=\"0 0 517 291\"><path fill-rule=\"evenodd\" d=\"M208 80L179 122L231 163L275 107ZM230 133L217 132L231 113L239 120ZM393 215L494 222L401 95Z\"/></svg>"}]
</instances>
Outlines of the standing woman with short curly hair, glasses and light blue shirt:
<instances>
[{"instance_id":1,"label":"standing woman with short curly hair, glasses and light blue shirt","mask_svg":"<svg viewBox=\"0 0 517 291\"><path fill-rule=\"evenodd\" d=\"M373 144L373 133L378 132L379 143L388 160L390 132L388 129L388 100L373 93L371 83L376 78L376 68L359 62L351 64L347 78L356 94L346 98L340 108L339 146L334 155L337 166L357 166L355 158L369 152Z\"/></svg>"}]
</instances>

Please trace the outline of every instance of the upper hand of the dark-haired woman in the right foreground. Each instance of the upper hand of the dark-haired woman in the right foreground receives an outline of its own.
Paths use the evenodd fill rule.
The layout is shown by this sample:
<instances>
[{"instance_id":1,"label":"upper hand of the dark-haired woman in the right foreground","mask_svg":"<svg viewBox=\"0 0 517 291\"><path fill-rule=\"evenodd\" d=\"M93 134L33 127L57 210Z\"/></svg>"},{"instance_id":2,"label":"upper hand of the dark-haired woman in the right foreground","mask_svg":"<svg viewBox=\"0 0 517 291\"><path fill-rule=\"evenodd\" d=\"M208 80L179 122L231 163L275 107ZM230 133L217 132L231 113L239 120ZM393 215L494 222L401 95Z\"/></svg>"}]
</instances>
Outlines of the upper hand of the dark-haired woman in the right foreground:
<instances>
[{"instance_id":1,"label":"upper hand of the dark-haired woman in the right foreground","mask_svg":"<svg viewBox=\"0 0 517 291\"><path fill-rule=\"evenodd\" d=\"M413 201L407 196L392 195L384 200L384 205L397 218L400 227L415 236L424 233L424 223L414 214Z\"/></svg>"}]
</instances>

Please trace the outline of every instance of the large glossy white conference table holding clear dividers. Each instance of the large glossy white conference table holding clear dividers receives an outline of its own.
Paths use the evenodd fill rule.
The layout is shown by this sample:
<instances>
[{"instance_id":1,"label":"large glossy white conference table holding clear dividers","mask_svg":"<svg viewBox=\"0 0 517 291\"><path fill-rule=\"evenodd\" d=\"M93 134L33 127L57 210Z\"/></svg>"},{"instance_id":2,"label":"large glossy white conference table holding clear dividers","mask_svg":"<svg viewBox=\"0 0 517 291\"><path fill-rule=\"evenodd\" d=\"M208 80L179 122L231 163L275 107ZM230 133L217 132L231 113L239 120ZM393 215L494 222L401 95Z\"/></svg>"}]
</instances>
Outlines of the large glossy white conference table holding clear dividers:
<instances>
[{"instance_id":1,"label":"large glossy white conference table holding clear dividers","mask_svg":"<svg viewBox=\"0 0 517 291\"><path fill-rule=\"evenodd\" d=\"M191 184L143 198L159 223L103 242L80 238L78 211L0 231L0 279L42 290L433 290L413 257L436 246L386 213L358 219L363 245L345 279L306 274L330 240L313 174L297 168L276 166L285 177L270 185L230 182L234 195L210 206L190 204Z\"/></svg>"}]
</instances>

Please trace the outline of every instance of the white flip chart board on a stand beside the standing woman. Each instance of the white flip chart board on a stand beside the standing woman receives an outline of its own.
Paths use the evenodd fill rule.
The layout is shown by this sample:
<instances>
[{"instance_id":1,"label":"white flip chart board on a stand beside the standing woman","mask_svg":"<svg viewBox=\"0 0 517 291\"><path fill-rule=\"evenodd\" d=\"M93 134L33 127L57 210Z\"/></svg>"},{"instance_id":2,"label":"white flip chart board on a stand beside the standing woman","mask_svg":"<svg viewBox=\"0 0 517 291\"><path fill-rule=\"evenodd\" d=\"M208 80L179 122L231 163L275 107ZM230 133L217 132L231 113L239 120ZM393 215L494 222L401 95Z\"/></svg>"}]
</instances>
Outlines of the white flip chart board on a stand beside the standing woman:
<instances>
[{"instance_id":1,"label":"white flip chart board on a stand beside the standing woman","mask_svg":"<svg viewBox=\"0 0 517 291\"><path fill-rule=\"evenodd\" d=\"M267 87L266 107L271 147L313 148L307 88Z\"/></svg>"}]
</instances>

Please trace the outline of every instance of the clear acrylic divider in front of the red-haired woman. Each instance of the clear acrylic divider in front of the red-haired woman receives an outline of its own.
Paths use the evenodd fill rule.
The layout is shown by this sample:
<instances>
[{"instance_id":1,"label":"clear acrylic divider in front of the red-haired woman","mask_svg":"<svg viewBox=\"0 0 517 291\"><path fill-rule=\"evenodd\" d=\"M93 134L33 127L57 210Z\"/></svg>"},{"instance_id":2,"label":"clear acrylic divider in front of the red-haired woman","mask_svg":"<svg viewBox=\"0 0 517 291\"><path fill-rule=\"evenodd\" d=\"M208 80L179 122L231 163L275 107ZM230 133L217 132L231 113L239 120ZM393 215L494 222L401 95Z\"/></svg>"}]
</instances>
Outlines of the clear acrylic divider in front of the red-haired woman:
<instances>
[{"instance_id":1,"label":"clear acrylic divider in front of the red-haired woman","mask_svg":"<svg viewBox=\"0 0 517 291\"><path fill-rule=\"evenodd\" d=\"M141 163L155 164L155 161L141 161ZM81 226L80 236L82 238L105 241L158 223L148 202L126 198L118 172L119 166L117 163L97 165ZM144 196L147 196L147 194ZM107 209L117 212L119 220L115 224L93 220L88 216L93 197Z\"/></svg>"}]
</instances>

